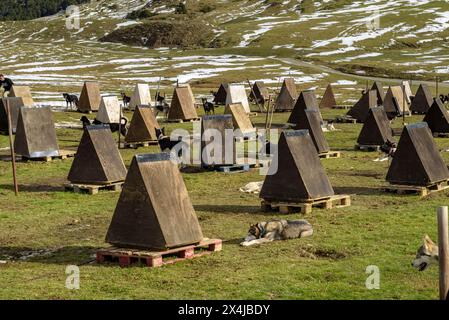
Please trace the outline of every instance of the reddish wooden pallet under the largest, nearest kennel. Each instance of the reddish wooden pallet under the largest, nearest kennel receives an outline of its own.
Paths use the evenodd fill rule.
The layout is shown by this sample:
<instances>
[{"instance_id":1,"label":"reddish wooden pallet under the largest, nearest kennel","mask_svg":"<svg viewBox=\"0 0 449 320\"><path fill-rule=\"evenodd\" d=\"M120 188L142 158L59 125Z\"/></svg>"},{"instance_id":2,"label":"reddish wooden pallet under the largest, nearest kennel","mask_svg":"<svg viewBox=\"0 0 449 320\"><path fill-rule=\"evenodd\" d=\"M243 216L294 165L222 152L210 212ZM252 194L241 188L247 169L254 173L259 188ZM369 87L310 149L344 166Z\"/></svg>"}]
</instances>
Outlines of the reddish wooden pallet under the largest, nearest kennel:
<instances>
[{"instance_id":1,"label":"reddish wooden pallet under the largest, nearest kennel","mask_svg":"<svg viewBox=\"0 0 449 320\"><path fill-rule=\"evenodd\" d=\"M221 251L220 239L204 239L197 245L183 246L164 251L145 251L126 248L105 248L97 251L97 262L118 262L120 267L143 263L148 267L160 267L186 259L201 257L212 252Z\"/></svg>"}]
</instances>

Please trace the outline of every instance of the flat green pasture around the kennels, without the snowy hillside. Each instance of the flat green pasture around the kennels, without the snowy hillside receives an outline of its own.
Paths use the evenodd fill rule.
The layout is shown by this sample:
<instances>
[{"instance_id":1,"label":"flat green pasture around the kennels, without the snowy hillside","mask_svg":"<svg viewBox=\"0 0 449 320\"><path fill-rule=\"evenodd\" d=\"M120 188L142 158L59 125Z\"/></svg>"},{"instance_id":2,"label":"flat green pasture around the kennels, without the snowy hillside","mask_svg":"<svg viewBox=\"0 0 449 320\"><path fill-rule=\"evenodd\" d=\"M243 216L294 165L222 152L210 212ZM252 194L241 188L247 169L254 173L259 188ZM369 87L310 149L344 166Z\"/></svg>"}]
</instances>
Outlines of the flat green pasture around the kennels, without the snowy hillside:
<instances>
[{"instance_id":1,"label":"flat green pasture around the kennels, without the snowy hillside","mask_svg":"<svg viewBox=\"0 0 449 320\"><path fill-rule=\"evenodd\" d=\"M342 111L323 111L325 118ZM73 117L54 113L56 121ZM283 124L288 114L276 114ZM407 122L420 117L407 118ZM263 116L253 119L263 123ZM190 126L190 125L184 125ZM401 121L394 122L395 127ZM174 125L168 126L173 129ZM447 194L426 199L387 194L388 164L377 153L355 152L360 125L336 125L326 133L341 159L322 160L337 193L352 206L314 209L307 216L263 213L256 195L238 188L263 179L257 170L241 174L184 173L203 233L224 241L223 251L159 269L120 268L91 263L104 242L118 193L96 196L63 191L72 160L19 163L20 195L12 191L11 164L0 162L1 299L435 299L437 268L418 272L410 265L423 234L436 238L435 210ZM60 146L76 148L80 130L58 129ZM440 149L449 141L436 139ZM0 148L7 147L0 137ZM150 147L121 150L126 165ZM6 152L6 151L3 151ZM443 152L449 161L449 154ZM311 238L250 248L238 244L249 224L271 218L306 218ZM35 256L25 258L30 253ZM79 290L65 288L65 268L80 265ZM365 288L368 265L380 268L379 290Z\"/></svg>"}]
</instances>

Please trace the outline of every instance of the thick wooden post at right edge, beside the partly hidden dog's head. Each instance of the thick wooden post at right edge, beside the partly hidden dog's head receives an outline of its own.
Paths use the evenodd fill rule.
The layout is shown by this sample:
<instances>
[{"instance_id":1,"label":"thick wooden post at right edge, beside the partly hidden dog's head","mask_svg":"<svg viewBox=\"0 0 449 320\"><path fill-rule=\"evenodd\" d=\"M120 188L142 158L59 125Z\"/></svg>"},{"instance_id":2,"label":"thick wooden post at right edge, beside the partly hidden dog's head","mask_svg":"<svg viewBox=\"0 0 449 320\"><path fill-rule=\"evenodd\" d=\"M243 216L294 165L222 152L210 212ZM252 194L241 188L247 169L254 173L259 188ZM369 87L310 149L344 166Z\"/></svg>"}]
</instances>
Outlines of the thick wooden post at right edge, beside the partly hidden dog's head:
<instances>
[{"instance_id":1,"label":"thick wooden post at right edge, beside the partly hidden dog's head","mask_svg":"<svg viewBox=\"0 0 449 320\"><path fill-rule=\"evenodd\" d=\"M449 298L448 209L438 208L438 262L440 264L440 300Z\"/></svg>"}]
</instances>

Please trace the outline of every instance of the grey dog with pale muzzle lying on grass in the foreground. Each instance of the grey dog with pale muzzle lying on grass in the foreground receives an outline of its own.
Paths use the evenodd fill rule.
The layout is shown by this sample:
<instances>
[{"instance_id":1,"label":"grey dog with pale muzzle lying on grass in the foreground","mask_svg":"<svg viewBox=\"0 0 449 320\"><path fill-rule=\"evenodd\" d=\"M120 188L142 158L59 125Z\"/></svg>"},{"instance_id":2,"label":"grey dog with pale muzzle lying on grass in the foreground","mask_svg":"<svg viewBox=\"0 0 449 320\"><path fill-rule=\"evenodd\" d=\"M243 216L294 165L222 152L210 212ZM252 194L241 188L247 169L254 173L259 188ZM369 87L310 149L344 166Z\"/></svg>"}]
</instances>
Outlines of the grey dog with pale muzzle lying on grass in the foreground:
<instances>
[{"instance_id":1,"label":"grey dog with pale muzzle lying on grass in the foreground","mask_svg":"<svg viewBox=\"0 0 449 320\"><path fill-rule=\"evenodd\" d=\"M307 220L276 219L252 225L249 228L245 241L240 243L240 245L248 247L274 240L310 237L312 234L313 227Z\"/></svg>"}]
</instances>

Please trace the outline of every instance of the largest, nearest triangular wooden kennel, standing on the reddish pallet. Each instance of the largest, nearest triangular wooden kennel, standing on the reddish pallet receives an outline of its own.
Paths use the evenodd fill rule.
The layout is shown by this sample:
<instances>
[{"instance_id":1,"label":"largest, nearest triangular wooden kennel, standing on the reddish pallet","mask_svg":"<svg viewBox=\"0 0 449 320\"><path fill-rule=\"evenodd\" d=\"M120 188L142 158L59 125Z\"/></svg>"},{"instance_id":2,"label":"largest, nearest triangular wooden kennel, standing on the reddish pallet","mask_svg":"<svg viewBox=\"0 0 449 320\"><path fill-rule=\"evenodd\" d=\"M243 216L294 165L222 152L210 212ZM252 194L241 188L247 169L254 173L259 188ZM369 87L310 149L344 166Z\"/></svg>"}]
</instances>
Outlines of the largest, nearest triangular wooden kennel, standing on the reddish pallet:
<instances>
[{"instance_id":1,"label":"largest, nearest triangular wooden kennel, standing on the reddish pallet","mask_svg":"<svg viewBox=\"0 0 449 320\"><path fill-rule=\"evenodd\" d=\"M187 188L169 154L136 155L106 242L119 247L166 249L202 239Z\"/></svg>"}]
</instances>

